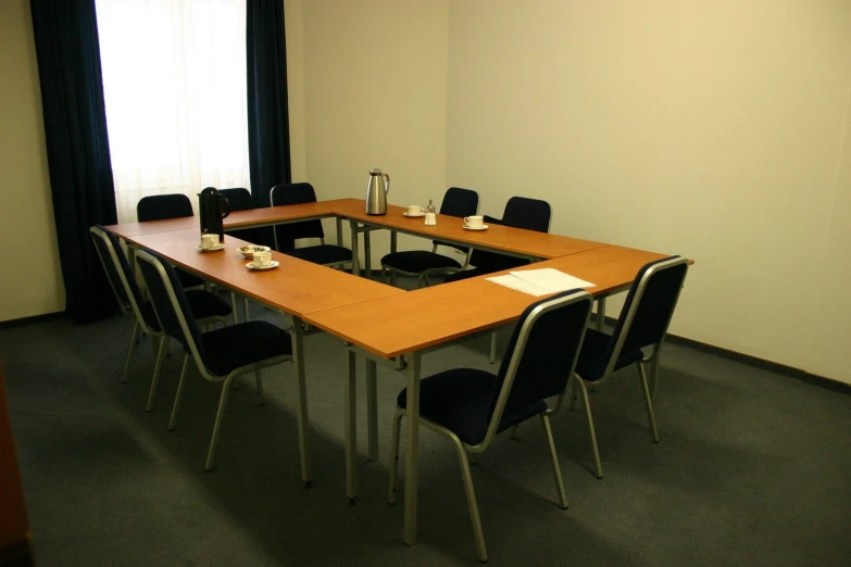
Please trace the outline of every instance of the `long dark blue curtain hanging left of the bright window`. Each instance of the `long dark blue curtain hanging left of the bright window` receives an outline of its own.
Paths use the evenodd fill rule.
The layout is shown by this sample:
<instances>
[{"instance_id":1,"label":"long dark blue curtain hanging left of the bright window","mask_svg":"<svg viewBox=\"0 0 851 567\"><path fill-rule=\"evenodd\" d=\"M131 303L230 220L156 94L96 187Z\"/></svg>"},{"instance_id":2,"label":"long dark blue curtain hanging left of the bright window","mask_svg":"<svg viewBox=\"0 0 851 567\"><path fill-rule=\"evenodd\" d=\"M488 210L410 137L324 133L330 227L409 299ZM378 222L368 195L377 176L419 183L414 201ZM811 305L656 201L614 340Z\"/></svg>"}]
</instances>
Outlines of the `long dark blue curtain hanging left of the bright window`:
<instances>
[{"instance_id":1,"label":"long dark blue curtain hanging left of the bright window","mask_svg":"<svg viewBox=\"0 0 851 567\"><path fill-rule=\"evenodd\" d=\"M89 227L117 222L95 2L29 5L65 311L87 323L115 310Z\"/></svg>"}]
</instances>

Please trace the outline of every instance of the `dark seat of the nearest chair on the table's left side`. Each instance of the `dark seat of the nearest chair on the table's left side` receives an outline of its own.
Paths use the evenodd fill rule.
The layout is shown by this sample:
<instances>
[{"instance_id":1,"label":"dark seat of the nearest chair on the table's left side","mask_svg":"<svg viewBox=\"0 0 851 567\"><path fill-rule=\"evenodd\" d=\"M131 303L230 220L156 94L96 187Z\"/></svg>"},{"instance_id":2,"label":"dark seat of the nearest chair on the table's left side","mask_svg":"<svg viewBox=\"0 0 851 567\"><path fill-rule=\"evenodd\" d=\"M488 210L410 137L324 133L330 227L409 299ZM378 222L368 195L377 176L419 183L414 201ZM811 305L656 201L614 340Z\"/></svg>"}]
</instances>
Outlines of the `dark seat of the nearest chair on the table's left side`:
<instances>
[{"instance_id":1,"label":"dark seat of the nearest chair on the table's left side","mask_svg":"<svg viewBox=\"0 0 851 567\"><path fill-rule=\"evenodd\" d=\"M227 376L247 364L292 354L284 329L265 320L251 320L201 333L204 365L211 374Z\"/></svg>"}]
</instances>

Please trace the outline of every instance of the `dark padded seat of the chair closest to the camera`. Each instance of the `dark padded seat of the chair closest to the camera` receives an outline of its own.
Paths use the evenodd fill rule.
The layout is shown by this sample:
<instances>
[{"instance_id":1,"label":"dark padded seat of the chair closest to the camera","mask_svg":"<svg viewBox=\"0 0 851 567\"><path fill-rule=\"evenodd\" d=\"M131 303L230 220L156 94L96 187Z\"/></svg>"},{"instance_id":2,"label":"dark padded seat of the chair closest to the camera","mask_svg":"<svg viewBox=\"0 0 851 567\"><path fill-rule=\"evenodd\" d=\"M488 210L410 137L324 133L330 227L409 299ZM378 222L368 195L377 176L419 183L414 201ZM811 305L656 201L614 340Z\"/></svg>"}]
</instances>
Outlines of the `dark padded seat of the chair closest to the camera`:
<instances>
[{"instance_id":1,"label":"dark padded seat of the chair closest to the camera","mask_svg":"<svg viewBox=\"0 0 851 567\"><path fill-rule=\"evenodd\" d=\"M475 445L485 440L495 398L499 395L497 377L485 370L455 368L420 382L420 415L455 433L461 441ZM406 408L408 388L399 392L396 403ZM547 411L538 401L511 414L503 414L497 432Z\"/></svg>"}]
</instances>

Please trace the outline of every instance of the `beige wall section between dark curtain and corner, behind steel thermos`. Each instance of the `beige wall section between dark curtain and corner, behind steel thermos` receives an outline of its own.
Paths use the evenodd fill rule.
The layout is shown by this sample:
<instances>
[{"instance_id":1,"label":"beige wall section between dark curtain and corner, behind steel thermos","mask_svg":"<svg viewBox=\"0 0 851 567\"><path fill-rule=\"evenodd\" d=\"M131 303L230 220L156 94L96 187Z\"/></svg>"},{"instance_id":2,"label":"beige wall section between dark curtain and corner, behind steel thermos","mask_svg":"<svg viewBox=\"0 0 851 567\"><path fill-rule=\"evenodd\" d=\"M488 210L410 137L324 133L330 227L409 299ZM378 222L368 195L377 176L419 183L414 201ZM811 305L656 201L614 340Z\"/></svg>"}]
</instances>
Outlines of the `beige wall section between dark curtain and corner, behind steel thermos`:
<instances>
[{"instance_id":1,"label":"beige wall section between dark curtain and corner, behind steel thermos","mask_svg":"<svg viewBox=\"0 0 851 567\"><path fill-rule=\"evenodd\" d=\"M324 199L362 197L380 167L392 202L439 199L448 1L309 0L303 26L305 180ZM374 257L386 241L376 238Z\"/></svg>"}]
</instances>

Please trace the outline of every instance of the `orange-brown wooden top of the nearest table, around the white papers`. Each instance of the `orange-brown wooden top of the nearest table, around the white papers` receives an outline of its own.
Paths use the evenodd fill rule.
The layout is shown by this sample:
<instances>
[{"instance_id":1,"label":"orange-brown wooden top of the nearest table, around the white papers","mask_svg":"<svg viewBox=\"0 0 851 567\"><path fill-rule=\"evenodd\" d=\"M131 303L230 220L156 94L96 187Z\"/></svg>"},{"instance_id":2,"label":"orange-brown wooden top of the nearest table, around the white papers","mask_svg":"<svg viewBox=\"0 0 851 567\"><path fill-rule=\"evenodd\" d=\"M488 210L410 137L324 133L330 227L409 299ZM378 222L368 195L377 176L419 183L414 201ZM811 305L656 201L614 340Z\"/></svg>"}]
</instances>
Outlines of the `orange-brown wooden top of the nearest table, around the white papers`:
<instances>
[{"instance_id":1,"label":"orange-brown wooden top of the nearest table, around the white papers","mask_svg":"<svg viewBox=\"0 0 851 567\"><path fill-rule=\"evenodd\" d=\"M588 291L600 295L628 287L641 266L662 257L666 255L604 247L541 262L527 269L561 269L596 284ZM391 358L515 320L524 308L541 298L485 279L506 273L312 313L305 320L379 356Z\"/></svg>"}]
</instances>

